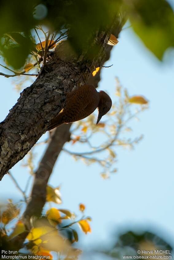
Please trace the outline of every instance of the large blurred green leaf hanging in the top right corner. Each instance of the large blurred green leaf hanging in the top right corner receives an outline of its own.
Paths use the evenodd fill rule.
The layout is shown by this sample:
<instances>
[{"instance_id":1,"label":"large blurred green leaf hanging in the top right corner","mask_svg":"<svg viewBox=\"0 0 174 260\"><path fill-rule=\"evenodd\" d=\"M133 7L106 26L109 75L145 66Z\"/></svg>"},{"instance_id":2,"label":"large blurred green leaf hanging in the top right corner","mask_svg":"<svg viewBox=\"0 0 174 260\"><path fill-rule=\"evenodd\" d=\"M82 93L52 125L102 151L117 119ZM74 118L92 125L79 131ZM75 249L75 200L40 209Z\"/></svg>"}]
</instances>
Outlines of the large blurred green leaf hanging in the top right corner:
<instances>
[{"instance_id":1,"label":"large blurred green leaf hanging in the top right corner","mask_svg":"<svg viewBox=\"0 0 174 260\"><path fill-rule=\"evenodd\" d=\"M145 46L162 60L168 47L174 46L174 15L164 0L134 1L131 23Z\"/></svg>"}]
</instances>

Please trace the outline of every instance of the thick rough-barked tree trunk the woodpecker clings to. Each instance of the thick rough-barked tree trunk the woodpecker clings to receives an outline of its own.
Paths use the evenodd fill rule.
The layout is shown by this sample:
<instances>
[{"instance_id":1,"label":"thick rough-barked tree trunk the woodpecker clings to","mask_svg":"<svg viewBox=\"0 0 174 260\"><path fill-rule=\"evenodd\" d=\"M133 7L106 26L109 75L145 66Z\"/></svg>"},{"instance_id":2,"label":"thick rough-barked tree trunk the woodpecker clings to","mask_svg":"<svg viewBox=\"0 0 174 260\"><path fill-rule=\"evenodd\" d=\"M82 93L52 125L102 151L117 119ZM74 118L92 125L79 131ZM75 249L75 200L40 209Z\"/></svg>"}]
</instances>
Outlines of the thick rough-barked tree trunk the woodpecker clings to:
<instances>
[{"instance_id":1,"label":"thick rough-barked tree trunk the woodpecker clings to","mask_svg":"<svg viewBox=\"0 0 174 260\"><path fill-rule=\"evenodd\" d=\"M80 55L74 53L68 40L61 43L37 80L21 93L0 124L0 180L27 154L48 122L63 108L63 93L85 84L90 73L103 62L111 29L96 32L93 43ZM98 50L92 59L91 48Z\"/></svg>"}]
</instances>

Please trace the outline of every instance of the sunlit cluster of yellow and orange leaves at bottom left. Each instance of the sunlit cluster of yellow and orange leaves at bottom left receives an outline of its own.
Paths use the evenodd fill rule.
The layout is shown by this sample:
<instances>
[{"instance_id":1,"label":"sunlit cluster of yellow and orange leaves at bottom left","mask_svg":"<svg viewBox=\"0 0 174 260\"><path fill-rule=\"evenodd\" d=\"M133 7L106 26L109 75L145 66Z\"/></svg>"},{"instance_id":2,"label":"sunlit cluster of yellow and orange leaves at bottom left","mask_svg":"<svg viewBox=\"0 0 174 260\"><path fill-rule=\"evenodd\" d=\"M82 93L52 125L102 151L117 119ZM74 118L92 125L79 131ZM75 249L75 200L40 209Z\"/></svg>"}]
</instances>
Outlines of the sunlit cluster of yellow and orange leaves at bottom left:
<instances>
[{"instance_id":1,"label":"sunlit cluster of yellow and orange leaves at bottom left","mask_svg":"<svg viewBox=\"0 0 174 260\"><path fill-rule=\"evenodd\" d=\"M57 195L59 188L51 189L48 186L47 210L40 218L32 217L30 219L29 232L26 231L25 223L22 220L21 203L14 204L12 200L9 200L7 205L1 206L0 241L2 246L9 243L10 248L10 241L14 241L23 233L28 232L19 255L42 255L49 256L49 259L61 255L61 259L78 259L81 250L72 247L72 244L79 240L78 226L85 234L91 232L89 224L91 218L84 215L85 205L82 203L79 204L78 215L67 209L53 207L50 204L51 201L55 203L54 205L61 203L53 198L53 190L55 191L54 196L60 198L60 192Z\"/></svg>"}]
</instances>

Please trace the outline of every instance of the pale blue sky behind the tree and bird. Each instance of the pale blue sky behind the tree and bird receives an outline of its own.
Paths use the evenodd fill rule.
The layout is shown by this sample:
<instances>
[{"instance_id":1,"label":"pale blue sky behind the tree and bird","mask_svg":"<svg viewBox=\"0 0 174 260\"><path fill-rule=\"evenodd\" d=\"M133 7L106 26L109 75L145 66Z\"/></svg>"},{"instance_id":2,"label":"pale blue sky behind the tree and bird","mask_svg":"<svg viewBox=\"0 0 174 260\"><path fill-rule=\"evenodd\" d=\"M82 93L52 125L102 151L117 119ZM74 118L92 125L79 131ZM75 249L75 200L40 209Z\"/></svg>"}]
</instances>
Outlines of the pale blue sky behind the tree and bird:
<instances>
[{"instance_id":1,"label":"pale blue sky behind the tree and bird","mask_svg":"<svg viewBox=\"0 0 174 260\"><path fill-rule=\"evenodd\" d=\"M102 69L99 89L106 90L113 100L116 76L130 95L144 95L149 100L149 109L139 116L141 121L131 123L133 134L143 134L144 139L134 150L117 151L118 173L103 180L97 165L87 167L63 152L56 163L49 184L55 187L61 184L61 207L78 212L78 204L82 202L86 214L93 219L92 233L81 235L83 243L106 244L114 228L139 225L150 226L174 244L174 62L167 53L164 60L159 62L129 28L120 34L106 64L113 66ZM2 121L19 93L14 90L11 78L1 76L0 85ZM39 149L41 156L43 150ZM21 162L11 172L23 186L26 169L20 165ZM0 183L0 195L19 198L8 176Z\"/></svg>"}]
</instances>

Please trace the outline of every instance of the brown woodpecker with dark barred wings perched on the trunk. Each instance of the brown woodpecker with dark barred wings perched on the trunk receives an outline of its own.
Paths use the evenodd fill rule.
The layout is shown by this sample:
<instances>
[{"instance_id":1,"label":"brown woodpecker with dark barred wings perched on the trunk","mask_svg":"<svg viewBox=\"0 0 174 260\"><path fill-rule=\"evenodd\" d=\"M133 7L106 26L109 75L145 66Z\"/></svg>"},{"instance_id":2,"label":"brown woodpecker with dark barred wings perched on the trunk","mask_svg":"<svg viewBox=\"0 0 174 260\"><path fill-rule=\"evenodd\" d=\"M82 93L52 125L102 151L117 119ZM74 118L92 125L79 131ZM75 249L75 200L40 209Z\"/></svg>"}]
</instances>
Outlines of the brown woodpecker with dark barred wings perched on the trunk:
<instances>
[{"instance_id":1,"label":"brown woodpecker with dark barred wings perched on the trunk","mask_svg":"<svg viewBox=\"0 0 174 260\"><path fill-rule=\"evenodd\" d=\"M64 94L66 96L64 109L49 122L47 131L61 124L79 121L93 113L96 108L99 111L96 123L98 124L112 106L110 96L105 91L98 92L93 85L83 85Z\"/></svg>"}]
</instances>

